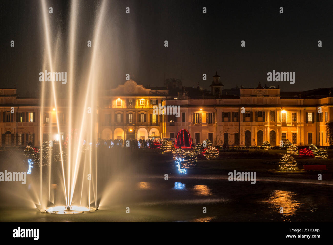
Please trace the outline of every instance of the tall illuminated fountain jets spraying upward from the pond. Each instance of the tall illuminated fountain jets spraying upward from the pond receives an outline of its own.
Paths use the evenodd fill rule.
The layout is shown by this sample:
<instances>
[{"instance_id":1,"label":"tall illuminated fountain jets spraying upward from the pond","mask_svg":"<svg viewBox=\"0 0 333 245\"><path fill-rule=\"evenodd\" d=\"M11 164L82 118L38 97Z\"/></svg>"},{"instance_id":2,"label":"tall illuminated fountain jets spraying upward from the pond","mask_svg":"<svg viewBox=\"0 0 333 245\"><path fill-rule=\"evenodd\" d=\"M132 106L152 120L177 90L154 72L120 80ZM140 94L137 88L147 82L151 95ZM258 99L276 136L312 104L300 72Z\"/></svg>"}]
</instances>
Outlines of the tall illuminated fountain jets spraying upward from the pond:
<instances>
[{"instance_id":1,"label":"tall illuminated fountain jets spraying upward from the pond","mask_svg":"<svg viewBox=\"0 0 333 245\"><path fill-rule=\"evenodd\" d=\"M82 53L76 52L78 43L82 43L76 38L79 24L78 2L71 2L68 36L64 38L60 34L62 27L59 27L58 32L54 31L56 19L49 13L50 6L47 2L41 0L45 44L42 70L47 71L46 75L50 74L51 78L48 81L45 75L42 82L41 115L49 113L52 119L48 126L40 127L40 142L42 145L45 141L43 134L51 135L52 152L58 153L57 162L45 164L43 150L40 150L40 192L32 191L32 194L33 202L41 212L82 213L96 211L99 207L97 150L91 146L96 145L93 142L97 142L97 117L94 116L97 114L96 93L100 80L100 61L97 57L103 52L98 47L101 45L106 3L102 1L98 6L92 36L94 45L86 47L89 59L88 62L82 62ZM60 73L62 78L63 74L67 74L66 81L59 82L55 79L54 74ZM67 125L66 128L62 124ZM66 140L63 132L68 132ZM52 140L59 143L53 144ZM35 187L37 184L32 189L35 190Z\"/></svg>"}]
</instances>

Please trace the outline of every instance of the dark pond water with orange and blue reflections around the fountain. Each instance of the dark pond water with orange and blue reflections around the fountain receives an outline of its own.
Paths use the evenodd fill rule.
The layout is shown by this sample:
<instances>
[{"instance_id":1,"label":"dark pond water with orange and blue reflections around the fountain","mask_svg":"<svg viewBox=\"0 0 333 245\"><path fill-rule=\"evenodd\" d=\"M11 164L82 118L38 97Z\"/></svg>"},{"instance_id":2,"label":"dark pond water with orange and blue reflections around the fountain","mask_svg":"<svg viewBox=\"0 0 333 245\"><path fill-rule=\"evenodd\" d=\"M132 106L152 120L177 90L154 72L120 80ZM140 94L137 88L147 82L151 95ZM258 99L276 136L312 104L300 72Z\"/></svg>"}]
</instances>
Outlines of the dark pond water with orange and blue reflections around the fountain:
<instances>
[{"instance_id":1,"label":"dark pond water with orange and blue reflections around the fountain","mask_svg":"<svg viewBox=\"0 0 333 245\"><path fill-rule=\"evenodd\" d=\"M105 188L96 212L46 214L28 207L2 207L0 221L327 222L333 218L332 190L259 181L122 178Z\"/></svg>"}]
</instances>

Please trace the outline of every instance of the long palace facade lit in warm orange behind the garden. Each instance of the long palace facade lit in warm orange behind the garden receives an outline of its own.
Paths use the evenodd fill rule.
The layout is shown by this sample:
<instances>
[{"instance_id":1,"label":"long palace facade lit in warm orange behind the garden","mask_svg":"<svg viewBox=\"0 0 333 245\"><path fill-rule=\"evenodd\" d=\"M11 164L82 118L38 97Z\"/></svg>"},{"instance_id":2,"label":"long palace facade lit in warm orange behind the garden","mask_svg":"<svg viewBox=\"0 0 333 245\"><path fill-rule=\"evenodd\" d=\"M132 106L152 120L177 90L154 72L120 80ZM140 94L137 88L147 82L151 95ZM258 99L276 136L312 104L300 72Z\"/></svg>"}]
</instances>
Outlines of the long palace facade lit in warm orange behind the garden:
<instances>
[{"instance_id":1,"label":"long palace facade lit in warm orange behind the garden","mask_svg":"<svg viewBox=\"0 0 333 245\"><path fill-rule=\"evenodd\" d=\"M126 81L99 96L96 135L99 139L175 138L187 129L194 143L209 139L215 145L277 146L289 139L294 145L328 146L325 123L333 120L331 88L281 92L279 86L223 90L215 74L211 91L184 88L180 80L164 87ZM180 106L180 116L155 115L153 106ZM20 98L16 89L0 89L1 146L64 140L68 134L66 103L58 110L40 100ZM15 113L11 113L14 108ZM319 113L321 112L321 113ZM60 135L57 133L58 113Z\"/></svg>"}]
</instances>

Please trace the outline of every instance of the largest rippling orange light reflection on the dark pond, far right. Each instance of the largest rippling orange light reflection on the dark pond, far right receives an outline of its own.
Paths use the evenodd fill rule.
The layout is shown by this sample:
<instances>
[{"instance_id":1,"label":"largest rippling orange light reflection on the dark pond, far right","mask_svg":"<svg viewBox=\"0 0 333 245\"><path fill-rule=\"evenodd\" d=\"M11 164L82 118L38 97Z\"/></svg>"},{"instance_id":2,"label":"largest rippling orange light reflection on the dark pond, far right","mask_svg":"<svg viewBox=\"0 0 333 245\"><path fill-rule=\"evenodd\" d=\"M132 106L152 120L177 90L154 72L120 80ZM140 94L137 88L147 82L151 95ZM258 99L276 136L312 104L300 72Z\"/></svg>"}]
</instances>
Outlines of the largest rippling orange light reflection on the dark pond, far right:
<instances>
[{"instance_id":1,"label":"largest rippling orange light reflection on the dark pond, far right","mask_svg":"<svg viewBox=\"0 0 333 245\"><path fill-rule=\"evenodd\" d=\"M271 208L276 209L279 212L280 207L283 207L283 215L296 214L297 209L304 203L295 199L295 192L275 190L270 194L270 197L261 200L260 202L270 204Z\"/></svg>"}]
</instances>

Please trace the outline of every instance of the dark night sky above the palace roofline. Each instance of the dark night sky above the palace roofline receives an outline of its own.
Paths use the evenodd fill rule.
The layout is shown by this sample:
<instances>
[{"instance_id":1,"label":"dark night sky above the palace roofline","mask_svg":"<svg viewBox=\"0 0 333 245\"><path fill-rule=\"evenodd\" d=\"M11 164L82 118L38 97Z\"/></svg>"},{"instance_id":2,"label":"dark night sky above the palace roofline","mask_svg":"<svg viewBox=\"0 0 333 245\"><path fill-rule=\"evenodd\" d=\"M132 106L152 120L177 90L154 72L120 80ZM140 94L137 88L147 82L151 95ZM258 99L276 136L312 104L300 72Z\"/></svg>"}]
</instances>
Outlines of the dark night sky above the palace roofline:
<instances>
[{"instance_id":1,"label":"dark night sky above the palace roofline","mask_svg":"<svg viewBox=\"0 0 333 245\"><path fill-rule=\"evenodd\" d=\"M77 72L89 61L87 40L92 40L100 5L79 2ZM47 6L53 7L50 28L62 41L59 71L68 72L70 2L47 1ZM107 8L98 58L103 88L123 84L129 73L144 85L163 86L165 79L177 78L185 86L199 83L208 89L215 71L226 89L258 82L280 85L282 91L332 87L333 1L125 0L108 1ZM0 88L16 85L21 96L33 95L45 51L40 1L1 0L0 11ZM295 84L267 82L273 70L295 72Z\"/></svg>"}]
</instances>

